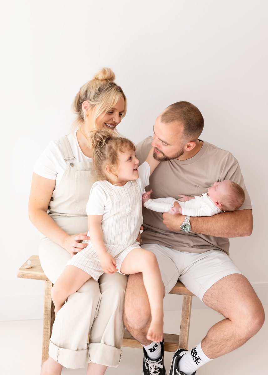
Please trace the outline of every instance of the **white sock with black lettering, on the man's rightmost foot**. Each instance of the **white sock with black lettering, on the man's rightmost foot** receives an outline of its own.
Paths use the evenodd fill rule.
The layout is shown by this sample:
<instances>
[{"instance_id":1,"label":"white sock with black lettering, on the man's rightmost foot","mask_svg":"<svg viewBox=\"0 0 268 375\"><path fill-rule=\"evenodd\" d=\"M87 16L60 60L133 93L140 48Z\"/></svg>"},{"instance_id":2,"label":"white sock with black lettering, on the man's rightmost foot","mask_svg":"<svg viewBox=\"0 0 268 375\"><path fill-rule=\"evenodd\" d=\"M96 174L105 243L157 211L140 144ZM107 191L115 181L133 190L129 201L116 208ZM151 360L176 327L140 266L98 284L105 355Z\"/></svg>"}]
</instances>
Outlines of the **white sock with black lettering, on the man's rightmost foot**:
<instances>
[{"instance_id":1,"label":"white sock with black lettering, on the man's rightmost foot","mask_svg":"<svg viewBox=\"0 0 268 375\"><path fill-rule=\"evenodd\" d=\"M193 374L194 371L199 369L211 361L201 348L201 343L196 345L191 351L185 352L184 356L179 361L179 371L183 371L186 375Z\"/></svg>"}]
</instances>

